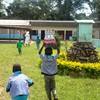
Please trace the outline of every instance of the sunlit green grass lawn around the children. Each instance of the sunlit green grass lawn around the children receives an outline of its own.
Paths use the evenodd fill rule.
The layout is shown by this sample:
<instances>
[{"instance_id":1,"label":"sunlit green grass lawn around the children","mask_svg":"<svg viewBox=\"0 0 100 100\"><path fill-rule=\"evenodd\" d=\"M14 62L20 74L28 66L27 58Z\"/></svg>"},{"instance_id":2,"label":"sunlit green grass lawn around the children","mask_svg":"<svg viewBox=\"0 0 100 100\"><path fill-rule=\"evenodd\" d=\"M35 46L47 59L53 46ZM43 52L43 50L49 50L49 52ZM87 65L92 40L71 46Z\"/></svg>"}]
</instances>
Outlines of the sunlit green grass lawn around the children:
<instances>
[{"instance_id":1,"label":"sunlit green grass lawn around the children","mask_svg":"<svg viewBox=\"0 0 100 100\"><path fill-rule=\"evenodd\" d=\"M22 72L34 80L28 100L47 100L35 43L30 47L23 47L22 52L21 56L18 55L16 44L0 44L0 100L10 100L5 86L13 74L14 63L20 63ZM59 100L100 100L100 79L56 75L56 87Z\"/></svg>"}]
</instances>

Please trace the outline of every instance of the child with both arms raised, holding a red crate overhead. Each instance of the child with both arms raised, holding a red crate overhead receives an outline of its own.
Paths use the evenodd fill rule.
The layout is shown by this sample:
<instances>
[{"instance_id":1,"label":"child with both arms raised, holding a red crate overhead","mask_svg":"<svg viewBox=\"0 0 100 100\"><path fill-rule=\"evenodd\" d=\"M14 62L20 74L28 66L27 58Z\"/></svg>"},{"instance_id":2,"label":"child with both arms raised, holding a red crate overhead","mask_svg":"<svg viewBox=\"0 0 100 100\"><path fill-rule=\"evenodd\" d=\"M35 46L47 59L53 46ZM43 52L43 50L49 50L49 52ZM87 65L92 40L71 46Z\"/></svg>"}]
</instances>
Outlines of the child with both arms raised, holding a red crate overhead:
<instances>
[{"instance_id":1,"label":"child with both arms raised, holding a red crate overhead","mask_svg":"<svg viewBox=\"0 0 100 100\"><path fill-rule=\"evenodd\" d=\"M43 62L41 73L44 74L44 82L45 82L47 97L49 100L52 100L51 98L51 92L52 92L54 100L58 100L57 95L56 95L55 75L58 72L56 60L59 56L58 54L60 53L60 50L58 46L56 45L57 54L55 56L52 56L52 48L46 47L45 55L43 55L41 54L41 52L44 46L45 44L43 44L43 46L40 48L39 55Z\"/></svg>"}]
</instances>

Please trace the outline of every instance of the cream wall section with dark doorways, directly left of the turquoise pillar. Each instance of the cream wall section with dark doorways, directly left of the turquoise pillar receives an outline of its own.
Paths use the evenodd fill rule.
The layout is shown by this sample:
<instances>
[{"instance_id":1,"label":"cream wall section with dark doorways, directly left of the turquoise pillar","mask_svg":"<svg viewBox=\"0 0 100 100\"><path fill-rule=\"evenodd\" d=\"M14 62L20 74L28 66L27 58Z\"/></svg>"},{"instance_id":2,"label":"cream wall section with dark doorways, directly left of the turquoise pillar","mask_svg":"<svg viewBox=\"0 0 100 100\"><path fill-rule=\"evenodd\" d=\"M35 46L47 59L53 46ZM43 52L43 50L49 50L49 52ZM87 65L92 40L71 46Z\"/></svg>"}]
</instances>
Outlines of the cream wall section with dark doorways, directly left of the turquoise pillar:
<instances>
[{"instance_id":1,"label":"cream wall section with dark doorways, directly left of the turquoise pillar","mask_svg":"<svg viewBox=\"0 0 100 100\"><path fill-rule=\"evenodd\" d=\"M51 34L54 34L55 32L58 32L61 36L62 36L62 39L63 40L66 40L66 33L67 31L72 31L72 35L76 33L76 28L75 27L42 27L42 26L39 26L39 27L31 27L32 30L37 30L38 33L37 35L40 37L40 39L42 38L41 37L41 32L44 30L45 31L45 36L46 35L51 35ZM36 36L32 36L32 39L36 39ZM70 39L70 37L69 37Z\"/></svg>"}]
</instances>

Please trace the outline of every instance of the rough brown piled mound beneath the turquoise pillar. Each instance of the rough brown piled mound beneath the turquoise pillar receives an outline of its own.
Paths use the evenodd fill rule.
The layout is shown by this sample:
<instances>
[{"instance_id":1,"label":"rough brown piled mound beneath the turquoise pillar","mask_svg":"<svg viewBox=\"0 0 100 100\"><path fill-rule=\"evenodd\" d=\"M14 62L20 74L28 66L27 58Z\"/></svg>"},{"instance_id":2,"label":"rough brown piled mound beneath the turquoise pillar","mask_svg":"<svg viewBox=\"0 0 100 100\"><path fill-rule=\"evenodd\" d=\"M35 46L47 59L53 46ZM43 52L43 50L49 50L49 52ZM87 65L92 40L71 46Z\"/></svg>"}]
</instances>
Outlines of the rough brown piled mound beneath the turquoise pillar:
<instances>
[{"instance_id":1,"label":"rough brown piled mound beneath the turquoise pillar","mask_svg":"<svg viewBox=\"0 0 100 100\"><path fill-rule=\"evenodd\" d=\"M98 52L91 42L76 42L67 51L70 61L77 62L98 62Z\"/></svg>"}]
</instances>

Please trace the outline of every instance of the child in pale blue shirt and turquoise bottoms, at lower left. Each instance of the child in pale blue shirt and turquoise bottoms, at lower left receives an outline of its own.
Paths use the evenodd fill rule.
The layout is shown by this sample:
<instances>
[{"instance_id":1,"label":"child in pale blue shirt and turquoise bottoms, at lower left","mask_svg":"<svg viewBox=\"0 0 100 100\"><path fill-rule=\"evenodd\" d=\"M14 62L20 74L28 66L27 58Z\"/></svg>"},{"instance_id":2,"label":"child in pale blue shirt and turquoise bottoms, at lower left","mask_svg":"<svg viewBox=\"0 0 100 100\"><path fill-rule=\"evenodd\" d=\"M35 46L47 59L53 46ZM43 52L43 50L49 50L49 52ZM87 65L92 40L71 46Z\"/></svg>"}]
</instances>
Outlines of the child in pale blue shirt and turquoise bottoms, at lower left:
<instances>
[{"instance_id":1,"label":"child in pale blue shirt and turquoise bottoms, at lower left","mask_svg":"<svg viewBox=\"0 0 100 100\"><path fill-rule=\"evenodd\" d=\"M33 81L22 74L20 64L13 65L13 75L9 78L6 92L10 91L11 100L27 100Z\"/></svg>"}]
</instances>

